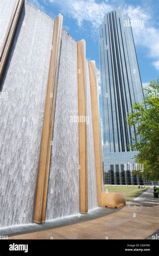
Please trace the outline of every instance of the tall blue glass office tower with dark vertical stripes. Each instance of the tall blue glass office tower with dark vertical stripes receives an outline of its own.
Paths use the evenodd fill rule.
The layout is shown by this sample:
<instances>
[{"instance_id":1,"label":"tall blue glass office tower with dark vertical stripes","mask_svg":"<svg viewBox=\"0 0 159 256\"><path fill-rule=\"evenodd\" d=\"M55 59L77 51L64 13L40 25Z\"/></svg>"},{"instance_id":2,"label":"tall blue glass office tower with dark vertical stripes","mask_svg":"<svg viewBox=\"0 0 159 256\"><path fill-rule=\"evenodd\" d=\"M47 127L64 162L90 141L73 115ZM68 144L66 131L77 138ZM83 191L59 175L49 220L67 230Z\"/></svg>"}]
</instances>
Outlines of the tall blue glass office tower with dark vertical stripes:
<instances>
[{"instance_id":1,"label":"tall blue glass office tower with dark vertical stripes","mask_svg":"<svg viewBox=\"0 0 159 256\"><path fill-rule=\"evenodd\" d=\"M142 102L143 91L131 22L120 7L104 15L99 30L99 57L104 182L137 185L141 181L132 176L129 163L134 163L138 152L128 144L138 138L136 127L127 126L126 117L134 102Z\"/></svg>"}]
</instances>

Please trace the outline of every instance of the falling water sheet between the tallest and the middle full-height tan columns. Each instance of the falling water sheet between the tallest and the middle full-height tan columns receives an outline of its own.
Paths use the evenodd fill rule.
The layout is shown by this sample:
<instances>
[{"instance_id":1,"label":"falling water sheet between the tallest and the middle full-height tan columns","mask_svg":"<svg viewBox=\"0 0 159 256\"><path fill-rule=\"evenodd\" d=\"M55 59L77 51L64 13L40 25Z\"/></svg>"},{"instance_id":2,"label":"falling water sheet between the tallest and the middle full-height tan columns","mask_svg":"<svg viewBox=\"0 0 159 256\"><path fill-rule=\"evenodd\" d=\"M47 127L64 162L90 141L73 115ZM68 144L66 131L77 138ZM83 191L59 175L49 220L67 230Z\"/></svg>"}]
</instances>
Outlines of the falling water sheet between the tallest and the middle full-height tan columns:
<instances>
[{"instance_id":1,"label":"falling water sheet between the tallest and the middle full-height tan columns","mask_svg":"<svg viewBox=\"0 0 159 256\"><path fill-rule=\"evenodd\" d=\"M62 30L46 220L79 213L77 43Z\"/></svg>"}]
</instances>

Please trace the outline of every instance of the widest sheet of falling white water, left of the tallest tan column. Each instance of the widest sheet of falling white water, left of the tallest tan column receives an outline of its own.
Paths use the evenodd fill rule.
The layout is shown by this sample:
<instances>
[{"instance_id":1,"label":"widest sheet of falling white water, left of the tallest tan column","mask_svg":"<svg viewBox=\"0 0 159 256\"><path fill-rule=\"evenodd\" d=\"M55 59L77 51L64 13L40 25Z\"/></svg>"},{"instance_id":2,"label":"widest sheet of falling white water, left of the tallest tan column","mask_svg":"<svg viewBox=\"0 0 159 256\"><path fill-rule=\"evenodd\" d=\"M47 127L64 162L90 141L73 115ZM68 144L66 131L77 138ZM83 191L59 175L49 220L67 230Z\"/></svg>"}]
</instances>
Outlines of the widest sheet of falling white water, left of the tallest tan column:
<instances>
[{"instance_id":1,"label":"widest sheet of falling white water, left of the tallest tan column","mask_svg":"<svg viewBox=\"0 0 159 256\"><path fill-rule=\"evenodd\" d=\"M25 2L0 84L0 227L34 220L53 27Z\"/></svg>"}]
</instances>

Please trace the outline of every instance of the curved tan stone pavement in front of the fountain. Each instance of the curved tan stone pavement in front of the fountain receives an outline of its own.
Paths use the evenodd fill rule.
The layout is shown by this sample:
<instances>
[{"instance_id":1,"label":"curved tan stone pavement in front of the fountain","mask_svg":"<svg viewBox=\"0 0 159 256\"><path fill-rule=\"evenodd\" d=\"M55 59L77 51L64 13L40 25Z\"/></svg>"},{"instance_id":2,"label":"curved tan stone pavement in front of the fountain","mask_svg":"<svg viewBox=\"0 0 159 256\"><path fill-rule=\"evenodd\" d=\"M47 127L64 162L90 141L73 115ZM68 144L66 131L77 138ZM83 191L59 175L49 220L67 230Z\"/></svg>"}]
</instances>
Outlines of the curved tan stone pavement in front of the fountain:
<instances>
[{"instance_id":1,"label":"curved tan stone pavement in front of the fountain","mask_svg":"<svg viewBox=\"0 0 159 256\"><path fill-rule=\"evenodd\" d=\"M153 188L120 211L69 226L10 236L8 239L146 239L159 229L159 198ZM150 239L150 238L149 238Z\"/></svg>"}]
</instances>

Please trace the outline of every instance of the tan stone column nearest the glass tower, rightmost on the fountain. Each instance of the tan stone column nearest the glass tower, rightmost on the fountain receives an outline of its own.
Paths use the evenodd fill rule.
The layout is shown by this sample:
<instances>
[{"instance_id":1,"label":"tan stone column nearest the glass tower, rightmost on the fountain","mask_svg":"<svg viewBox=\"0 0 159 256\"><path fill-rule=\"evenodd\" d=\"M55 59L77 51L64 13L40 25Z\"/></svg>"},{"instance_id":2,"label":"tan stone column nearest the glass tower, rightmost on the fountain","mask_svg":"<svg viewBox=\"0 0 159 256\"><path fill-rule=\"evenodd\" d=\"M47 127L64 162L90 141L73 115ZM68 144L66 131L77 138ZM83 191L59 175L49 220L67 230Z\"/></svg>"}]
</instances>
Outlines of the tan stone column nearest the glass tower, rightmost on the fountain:
<instances>
[{"instance_id":1,"label":"tan stone column nearest the glass tower, rightmost on the fountain","mask_svg":"<svg viewBox=\"0 0 159 256\"><path fill-rule=\"evenodd\" d=\"M92 105L92 121L94 135L94 151L96 164L96 179L97 179L97 196L98 206L102 206L103 192L103 163L102 163L102 146L101 146L101 128L100 128L100 110L99 110L99 94L98 94L98 79L95 61L89 61L89 75L91 87L91 105Z\"/></svg>"}]
</instances>

